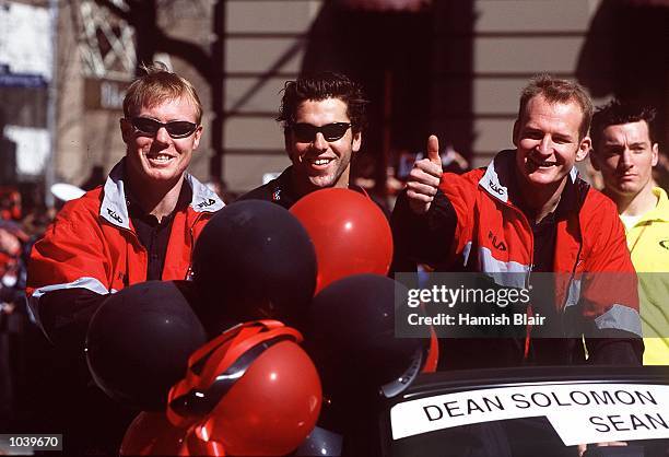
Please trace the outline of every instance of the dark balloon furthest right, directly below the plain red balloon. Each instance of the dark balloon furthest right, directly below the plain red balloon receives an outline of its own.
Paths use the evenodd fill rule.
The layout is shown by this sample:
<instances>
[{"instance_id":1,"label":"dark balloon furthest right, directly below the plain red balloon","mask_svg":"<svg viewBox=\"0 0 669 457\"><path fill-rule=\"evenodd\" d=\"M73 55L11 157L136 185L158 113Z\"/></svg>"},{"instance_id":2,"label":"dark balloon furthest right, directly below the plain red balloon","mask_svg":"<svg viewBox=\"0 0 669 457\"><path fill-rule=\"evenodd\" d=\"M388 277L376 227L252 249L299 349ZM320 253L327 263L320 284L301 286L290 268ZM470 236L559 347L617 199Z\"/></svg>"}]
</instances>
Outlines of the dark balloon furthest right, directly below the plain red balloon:
<instances>
[{"instance_id":1,"label":"dark balloon furthest right, directly below the plain red balloon","mask_svg":"<svg viewBox=\"0 0 669 457\"><path fill-rule=\"evenodd\" d=\"M406 286L378 274L355 274L314 297L305 348L325 395L377 394L423 358L429 340L395 335L396 294L406 297Z\"/></svg>"}]
</instances>

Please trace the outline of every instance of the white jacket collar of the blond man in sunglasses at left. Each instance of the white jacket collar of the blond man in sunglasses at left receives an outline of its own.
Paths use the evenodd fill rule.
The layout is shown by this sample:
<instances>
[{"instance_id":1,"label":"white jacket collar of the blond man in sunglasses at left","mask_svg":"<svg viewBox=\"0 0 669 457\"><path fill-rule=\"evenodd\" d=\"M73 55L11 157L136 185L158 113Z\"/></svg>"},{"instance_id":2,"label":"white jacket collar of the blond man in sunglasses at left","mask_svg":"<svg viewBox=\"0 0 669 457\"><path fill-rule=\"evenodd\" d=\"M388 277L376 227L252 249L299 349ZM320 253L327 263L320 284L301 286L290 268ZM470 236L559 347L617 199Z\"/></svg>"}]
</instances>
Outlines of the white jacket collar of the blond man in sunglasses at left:
<instances>
[{"instance_id":1,"label":"white jacket collar of the blond man in sunglasses at left","mask_svg":"<svg viewBox=\"0 0 669 457\"><path fill-rule=\"evenodd\" d=\"M104 187L103 201L99 207L99 216L118 227L130 230L130 216L126 203L125 184L125 157L117 163ZM192 189L190 208L195 212L215 212L225 206L223 201L207 186L188 173L185 175L186 183Z\"/></svg>"}]
</instances>

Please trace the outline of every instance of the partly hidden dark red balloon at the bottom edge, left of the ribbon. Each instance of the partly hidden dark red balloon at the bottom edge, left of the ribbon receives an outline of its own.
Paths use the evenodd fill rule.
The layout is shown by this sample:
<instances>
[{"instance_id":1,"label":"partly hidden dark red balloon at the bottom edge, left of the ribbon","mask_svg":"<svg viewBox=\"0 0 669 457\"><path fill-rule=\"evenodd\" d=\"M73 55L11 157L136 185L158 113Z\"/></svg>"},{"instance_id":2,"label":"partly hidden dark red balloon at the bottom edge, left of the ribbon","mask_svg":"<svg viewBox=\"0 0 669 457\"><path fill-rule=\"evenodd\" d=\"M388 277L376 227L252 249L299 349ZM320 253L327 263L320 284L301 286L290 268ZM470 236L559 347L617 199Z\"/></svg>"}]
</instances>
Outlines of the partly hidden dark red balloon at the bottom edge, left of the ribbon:
<instances>
[{"instance_id":1,"label":"partly hidden dark red balloon at the bottom edge, left of the ribbon","mask_svg":"<svg viewBox=\"0 0 669 457\"><path fill-rule=\"evenodd\" d=\"M174 426L164 412L140 412L132 421L119 454L121 456L188 456L184 444L187 430Z\"/></svg>"}]
</instances>

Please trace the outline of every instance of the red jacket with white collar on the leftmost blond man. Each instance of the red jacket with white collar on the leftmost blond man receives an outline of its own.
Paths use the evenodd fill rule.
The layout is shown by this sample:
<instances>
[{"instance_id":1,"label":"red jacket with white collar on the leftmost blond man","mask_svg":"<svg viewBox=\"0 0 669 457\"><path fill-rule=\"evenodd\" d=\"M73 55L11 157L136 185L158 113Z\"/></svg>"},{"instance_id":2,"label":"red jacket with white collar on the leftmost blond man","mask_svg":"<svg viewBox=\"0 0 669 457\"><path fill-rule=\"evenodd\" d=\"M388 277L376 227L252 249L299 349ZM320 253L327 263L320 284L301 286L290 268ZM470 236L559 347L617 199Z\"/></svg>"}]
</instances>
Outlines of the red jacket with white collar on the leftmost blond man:
<instances>
[{"instance_id":1,"label":"red jacket with white collar on the leftmost blond man","mask_svg":"<svg viewBox=\"0 0 669 457\"><path fill-rule=\"evenodd\" d=\"M163 280L189 274L195 241L221 199L195 177L186 175L192 200L172 222ZM35 244L28 266L27 293L35 316L40 298L51 291L85 289L108 294L146 280L146 249L134 233L124 191L122 161L104 187L69 201Z\"/></svg>"}]
</instances>

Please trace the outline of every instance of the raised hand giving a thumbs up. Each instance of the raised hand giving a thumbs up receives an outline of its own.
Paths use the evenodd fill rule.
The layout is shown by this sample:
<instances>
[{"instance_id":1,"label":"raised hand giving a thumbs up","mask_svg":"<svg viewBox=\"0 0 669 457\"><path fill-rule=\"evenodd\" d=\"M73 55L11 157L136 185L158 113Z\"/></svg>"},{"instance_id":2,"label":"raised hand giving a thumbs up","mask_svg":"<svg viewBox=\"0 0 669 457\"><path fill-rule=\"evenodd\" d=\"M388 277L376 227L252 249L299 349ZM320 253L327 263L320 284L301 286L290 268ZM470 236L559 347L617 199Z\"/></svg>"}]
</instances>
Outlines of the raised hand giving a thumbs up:
<instances>
[{"instance_id":1,"label":"raised hand giving a thumbs up","mask_svg":"<svg viewBox=\"0 0 669 457\"><path fill-rule=\"evenodd\" d=\"M414 213L424 214L430 210L443 173L439 140L431 134L427 139L427 157L413 164L407 181L409 207Z\"/></svg>"}]
</instances>

